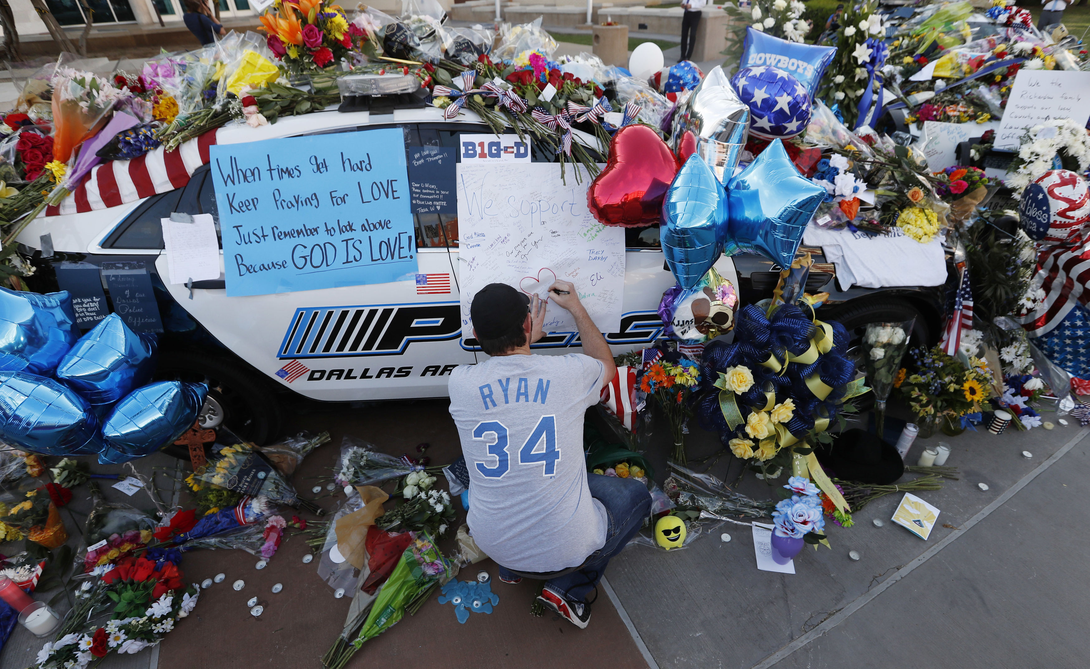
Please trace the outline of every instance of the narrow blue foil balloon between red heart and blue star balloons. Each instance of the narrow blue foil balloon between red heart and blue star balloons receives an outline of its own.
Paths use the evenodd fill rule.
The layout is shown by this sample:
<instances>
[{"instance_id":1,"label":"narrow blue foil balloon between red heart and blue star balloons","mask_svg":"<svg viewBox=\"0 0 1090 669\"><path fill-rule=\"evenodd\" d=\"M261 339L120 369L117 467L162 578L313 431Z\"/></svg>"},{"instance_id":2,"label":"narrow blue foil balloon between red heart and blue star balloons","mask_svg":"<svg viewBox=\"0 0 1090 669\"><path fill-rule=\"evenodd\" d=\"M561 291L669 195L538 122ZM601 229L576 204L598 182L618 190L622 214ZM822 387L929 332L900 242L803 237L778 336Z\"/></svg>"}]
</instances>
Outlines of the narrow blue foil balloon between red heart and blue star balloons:
<instances>
[{"instance_id":1,"label":"narrow blue foil balloon between red heart and blue star balloons","mask_svg":"<svg viewBox=\"0 0 1090 669\"><path fill-rule=\"evenodd\" d=\"M697 154L685 161L666 191L659 239L681 288L697 285L723 252L726 195L715 172Z\"/></svg>"}]
</instances>

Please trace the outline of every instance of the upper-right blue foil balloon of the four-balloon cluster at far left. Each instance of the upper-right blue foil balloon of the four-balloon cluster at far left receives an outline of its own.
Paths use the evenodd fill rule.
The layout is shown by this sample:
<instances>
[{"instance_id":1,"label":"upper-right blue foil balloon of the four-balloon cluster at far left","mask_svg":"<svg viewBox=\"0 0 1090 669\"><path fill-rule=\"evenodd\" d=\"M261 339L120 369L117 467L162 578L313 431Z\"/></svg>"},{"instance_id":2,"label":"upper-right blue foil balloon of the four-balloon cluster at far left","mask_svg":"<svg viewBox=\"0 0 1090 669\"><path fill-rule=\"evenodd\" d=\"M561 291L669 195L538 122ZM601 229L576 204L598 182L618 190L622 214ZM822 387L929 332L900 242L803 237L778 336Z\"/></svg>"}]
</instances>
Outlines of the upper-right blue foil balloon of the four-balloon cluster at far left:
<instances>
[{"instance_id":1,"label":"upper-right blue foil balloon of the four-balloon cluster at far left","mask_svg":"<svg viewBox=\"0 0 1090 669\"><path fill-rule=\"evenodd\" d=\"M57 366L57 378L92 406L106 408L152 380L156 339L110 314L75 342Z\"/></svg>"}]
</instances>

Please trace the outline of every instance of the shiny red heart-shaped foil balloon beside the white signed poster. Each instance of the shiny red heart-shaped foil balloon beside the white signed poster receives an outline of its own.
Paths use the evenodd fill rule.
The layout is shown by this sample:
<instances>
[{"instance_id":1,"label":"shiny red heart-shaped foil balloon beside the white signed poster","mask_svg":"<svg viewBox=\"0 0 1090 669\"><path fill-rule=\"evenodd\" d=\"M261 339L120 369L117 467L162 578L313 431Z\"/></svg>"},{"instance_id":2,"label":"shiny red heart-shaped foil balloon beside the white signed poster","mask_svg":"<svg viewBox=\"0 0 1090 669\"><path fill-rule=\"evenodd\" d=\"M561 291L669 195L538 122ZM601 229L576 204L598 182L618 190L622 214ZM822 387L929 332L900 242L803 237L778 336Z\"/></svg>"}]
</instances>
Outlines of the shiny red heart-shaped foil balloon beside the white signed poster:
<instances>
[{"instance_id":1,"label":"shiny red heart-shaped foil balloon beside the white signed poster","mask_svg":"<svg viewBox=\"0 0 1090 669\"><path fill-rule=\"evenodd\" d=\"M678 162L646 125L626 125L609 143L609 162L586 190L586 206L605 226L657 223Z\"/></svg>"}]
</instances>

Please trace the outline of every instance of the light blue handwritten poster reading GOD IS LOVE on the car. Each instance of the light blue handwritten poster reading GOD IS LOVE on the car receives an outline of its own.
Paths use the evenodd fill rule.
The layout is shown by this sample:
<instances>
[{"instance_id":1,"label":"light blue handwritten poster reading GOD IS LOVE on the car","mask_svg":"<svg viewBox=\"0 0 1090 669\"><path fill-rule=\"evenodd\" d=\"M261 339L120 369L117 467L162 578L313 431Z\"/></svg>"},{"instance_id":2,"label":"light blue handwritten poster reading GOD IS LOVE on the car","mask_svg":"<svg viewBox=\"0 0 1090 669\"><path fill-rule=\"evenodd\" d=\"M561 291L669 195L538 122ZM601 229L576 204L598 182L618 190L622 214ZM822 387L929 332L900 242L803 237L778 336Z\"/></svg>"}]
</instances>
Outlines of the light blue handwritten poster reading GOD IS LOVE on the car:
<instances>
[{"instance_id":1,"label":"light blue handwritten poster reading GOD IS LOVE on the car","mask_svg":"<svg viewBox=\"0 0 1090 669\"><path fill-rule=\"evenodd\" d=\"M229 296L416 273L399 129L215 145L209 156Z\"/></svg>"}]
</instances>

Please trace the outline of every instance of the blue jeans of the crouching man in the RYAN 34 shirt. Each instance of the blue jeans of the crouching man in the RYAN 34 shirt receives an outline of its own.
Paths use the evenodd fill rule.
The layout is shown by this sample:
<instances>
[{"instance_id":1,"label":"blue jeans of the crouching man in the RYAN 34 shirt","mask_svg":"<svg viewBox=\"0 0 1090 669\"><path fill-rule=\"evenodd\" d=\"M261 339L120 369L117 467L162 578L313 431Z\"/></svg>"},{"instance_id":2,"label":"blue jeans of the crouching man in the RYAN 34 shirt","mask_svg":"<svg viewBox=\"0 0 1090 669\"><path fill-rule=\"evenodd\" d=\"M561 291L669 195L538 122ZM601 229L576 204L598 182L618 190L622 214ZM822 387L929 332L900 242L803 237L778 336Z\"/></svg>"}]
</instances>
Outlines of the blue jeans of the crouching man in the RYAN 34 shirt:
<instances>
[{"instance_id":1,"label":"blue jeans of the crouching man in the RYAN 34 shirt","mask_svg":"<svg viewBox=\"0 0 1090 669\"><path fill-rule=\"evenodd\" d=\"M562 594L569 601L585 600L586 595L602 579L609 558L625 548L629 539L640 531L643 519L651 511L651 492L634 478L588 474L586 485L591 489L591 497L606 508L609 526L606 528L605 545L590 555L581 570L546 582L550 589ZM519 577L519 574L511 573L502 565L499 567L499 574L508 581Z\"/></svg>"}]
</instances>

